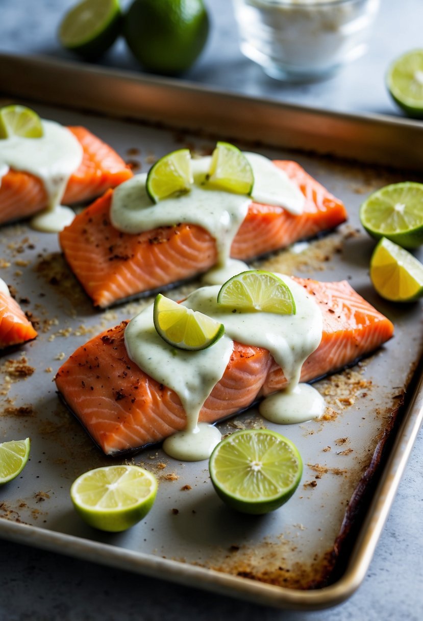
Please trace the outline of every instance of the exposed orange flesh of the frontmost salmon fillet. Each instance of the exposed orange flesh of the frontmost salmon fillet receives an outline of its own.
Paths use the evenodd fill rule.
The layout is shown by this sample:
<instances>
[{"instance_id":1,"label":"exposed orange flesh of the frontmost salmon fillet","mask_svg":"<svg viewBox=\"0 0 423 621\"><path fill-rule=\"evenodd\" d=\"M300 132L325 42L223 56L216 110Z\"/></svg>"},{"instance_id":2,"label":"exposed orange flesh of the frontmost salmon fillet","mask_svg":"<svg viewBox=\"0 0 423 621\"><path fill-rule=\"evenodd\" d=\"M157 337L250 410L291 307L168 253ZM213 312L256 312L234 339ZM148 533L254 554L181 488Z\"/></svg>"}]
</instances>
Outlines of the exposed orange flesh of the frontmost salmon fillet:
<instances>
[{"instance_id":1,"label":"exposed orange flesh of the frontmost salmon fillet","mask_svg":"<svg viewBox=\"0 0 423 621\"><path fill-rule=\"evenodd\" d=\"M372 353L393 335L393 324L349 283L293 278L314 296L323 315L319 347L301 369L301 381L334 373ZM159 384L128 357L122 322L79 347L55 381L69 409L106 455L136 451L185 428L176 392ZM215 423L287 385L269 351L234 342L225 373L200 411Z\"/></svg>"}]
</instances>

